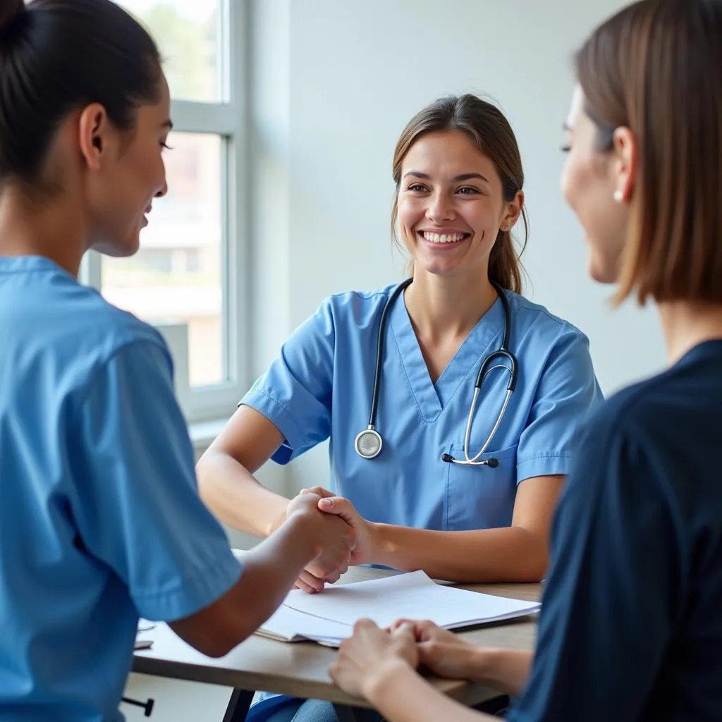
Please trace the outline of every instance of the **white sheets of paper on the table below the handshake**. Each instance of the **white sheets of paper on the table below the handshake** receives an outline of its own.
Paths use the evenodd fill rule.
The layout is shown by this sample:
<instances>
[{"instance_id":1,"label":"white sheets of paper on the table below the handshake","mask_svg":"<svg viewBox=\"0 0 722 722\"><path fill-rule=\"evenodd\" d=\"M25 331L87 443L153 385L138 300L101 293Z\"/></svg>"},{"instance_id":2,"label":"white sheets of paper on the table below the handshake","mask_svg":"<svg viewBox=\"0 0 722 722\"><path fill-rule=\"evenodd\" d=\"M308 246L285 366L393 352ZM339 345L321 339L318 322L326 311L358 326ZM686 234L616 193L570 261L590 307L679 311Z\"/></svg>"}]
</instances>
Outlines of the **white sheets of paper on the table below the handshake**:
<instances>
[{"instance_id":1,"label":"white sheets of paper on the table below the handshake","mask_svg":"<svg viewBox=\"0 0 722 722\"><path fill-rule=\"evenodd\" d=\"M277 612L256 632L284 642L313 640L337 647L363 618L388 627L396 619L430 619L456 629L523 617L539 604L441 586L423 572L329 586L319 594L290 591Z\"/></svg>"}]
</instances>

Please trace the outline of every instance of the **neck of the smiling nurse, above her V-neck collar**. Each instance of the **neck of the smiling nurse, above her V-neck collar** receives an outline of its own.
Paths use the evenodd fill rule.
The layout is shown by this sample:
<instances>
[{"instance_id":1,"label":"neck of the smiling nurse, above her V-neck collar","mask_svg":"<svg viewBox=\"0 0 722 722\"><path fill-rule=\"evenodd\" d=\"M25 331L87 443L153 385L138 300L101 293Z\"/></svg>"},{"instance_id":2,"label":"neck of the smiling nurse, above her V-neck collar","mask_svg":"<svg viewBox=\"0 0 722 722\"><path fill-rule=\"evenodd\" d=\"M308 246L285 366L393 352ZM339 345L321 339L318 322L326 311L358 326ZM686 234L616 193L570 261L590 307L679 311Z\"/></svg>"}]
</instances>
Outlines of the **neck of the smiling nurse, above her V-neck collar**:
<instances>
[{"instance_id":1,"label":"neck of the smiling nurse, above her V-neck collar","mask_svg":"<svg viewBox=\"0 0 722 722\"><path fill-rule=\"evenodd\" d=\"M497 299L486 277L444 278L414 271L406 289L406 310L417 334L432 341L466 338Z\"/></svg>"}]
</instances>

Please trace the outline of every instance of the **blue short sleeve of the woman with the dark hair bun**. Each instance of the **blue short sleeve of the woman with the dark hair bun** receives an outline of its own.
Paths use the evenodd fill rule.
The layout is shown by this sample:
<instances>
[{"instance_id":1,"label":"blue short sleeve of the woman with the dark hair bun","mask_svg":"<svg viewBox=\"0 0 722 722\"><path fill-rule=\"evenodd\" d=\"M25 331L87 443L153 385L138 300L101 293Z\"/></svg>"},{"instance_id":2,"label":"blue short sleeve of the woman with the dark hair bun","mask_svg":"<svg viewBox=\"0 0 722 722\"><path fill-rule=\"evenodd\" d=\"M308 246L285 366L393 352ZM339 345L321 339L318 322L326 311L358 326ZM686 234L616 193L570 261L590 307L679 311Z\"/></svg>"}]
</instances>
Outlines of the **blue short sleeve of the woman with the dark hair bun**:
<instances>
[{"instance_id":1,"label":"blue short sleeve of the woman with the dark hair bun","mask_svg":"<svg viewBox=\"0 0 722 722\"><path fill-rule=\"evenodd\" d=\"M121 347L87 386L77 425L72 513L84 546L123 580L139 614L170 622L219 599L241 567L198 495L165 349Z\"/></svg>"}]
</instances>

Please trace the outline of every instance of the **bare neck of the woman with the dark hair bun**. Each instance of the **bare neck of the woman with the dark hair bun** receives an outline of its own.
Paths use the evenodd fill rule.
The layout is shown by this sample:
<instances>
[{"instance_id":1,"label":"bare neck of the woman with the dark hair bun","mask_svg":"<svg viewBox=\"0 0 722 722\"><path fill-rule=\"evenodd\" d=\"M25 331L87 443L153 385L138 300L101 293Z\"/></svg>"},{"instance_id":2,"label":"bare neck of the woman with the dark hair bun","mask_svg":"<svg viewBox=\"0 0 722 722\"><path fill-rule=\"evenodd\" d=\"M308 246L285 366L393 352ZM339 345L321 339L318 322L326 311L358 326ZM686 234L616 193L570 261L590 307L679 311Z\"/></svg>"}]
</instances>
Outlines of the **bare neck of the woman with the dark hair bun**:
<instances>
[{"instance_id":1,"label":"bare neck of the woman with the dark hair bun","mask_svg":"<svg viewBox=\"0 0 722 722\"><path fill-rule=\"evenodd\" d=\"M0 256L45 256L77 276L86 250L82 209L69 198L32 202L18 188L0 193Z\"/></svg>"}]
</instances>

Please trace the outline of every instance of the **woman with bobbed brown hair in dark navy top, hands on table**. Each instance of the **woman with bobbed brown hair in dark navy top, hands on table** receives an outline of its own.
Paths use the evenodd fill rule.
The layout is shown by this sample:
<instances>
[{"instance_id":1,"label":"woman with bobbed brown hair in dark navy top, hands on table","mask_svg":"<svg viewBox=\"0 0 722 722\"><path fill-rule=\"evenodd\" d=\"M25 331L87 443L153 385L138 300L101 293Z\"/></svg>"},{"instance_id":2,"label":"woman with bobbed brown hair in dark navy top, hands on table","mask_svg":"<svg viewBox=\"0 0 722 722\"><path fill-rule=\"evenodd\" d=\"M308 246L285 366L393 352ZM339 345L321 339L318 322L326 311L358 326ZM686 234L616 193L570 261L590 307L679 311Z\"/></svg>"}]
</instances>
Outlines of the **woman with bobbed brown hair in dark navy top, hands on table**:
<instances>
[{"instance_id":1,"label":"woman with bobbed brown hair in dark navy top, hands on table","mask_svg":"<svg viewBox=\"0 0 722 722\"><path fill-rule=\"evenodd\" d=\"M655 303L669 368L580 434L534 656L430 622L357 625L331 677L390 722L479 720L419 664L517 697L516 722L722 719L719 68L720 0L642 0L578 52L562 191L593 279Z\"/></svg>"}]
</instances>

